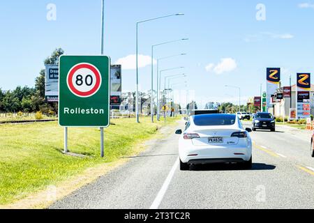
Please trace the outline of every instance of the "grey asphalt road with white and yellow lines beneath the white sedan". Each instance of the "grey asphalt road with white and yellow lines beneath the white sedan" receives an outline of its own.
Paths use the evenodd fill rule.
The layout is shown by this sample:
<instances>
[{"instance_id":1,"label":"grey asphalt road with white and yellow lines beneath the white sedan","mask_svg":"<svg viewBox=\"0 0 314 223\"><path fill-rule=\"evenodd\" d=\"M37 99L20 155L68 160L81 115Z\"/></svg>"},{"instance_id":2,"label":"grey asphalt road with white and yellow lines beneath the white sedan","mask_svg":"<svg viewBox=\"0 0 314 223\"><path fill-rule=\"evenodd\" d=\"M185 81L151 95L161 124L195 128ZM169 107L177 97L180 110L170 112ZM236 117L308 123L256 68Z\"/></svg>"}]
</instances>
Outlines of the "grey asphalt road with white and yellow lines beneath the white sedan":
<instances>
[{"instance_id":1,"label":"grey asphalt road with white and yellow lines beneath the white sedan","mask_svg":"<svg viewBox=\"0 0 314 223\"><path fill-rule=\"evenodd\" d=\"M179 170L179 137L164 133L141 155L50 208L314 208L311 132L252 132L252 170L225 164L190 171Z\"/></svg>"}]
</instances>

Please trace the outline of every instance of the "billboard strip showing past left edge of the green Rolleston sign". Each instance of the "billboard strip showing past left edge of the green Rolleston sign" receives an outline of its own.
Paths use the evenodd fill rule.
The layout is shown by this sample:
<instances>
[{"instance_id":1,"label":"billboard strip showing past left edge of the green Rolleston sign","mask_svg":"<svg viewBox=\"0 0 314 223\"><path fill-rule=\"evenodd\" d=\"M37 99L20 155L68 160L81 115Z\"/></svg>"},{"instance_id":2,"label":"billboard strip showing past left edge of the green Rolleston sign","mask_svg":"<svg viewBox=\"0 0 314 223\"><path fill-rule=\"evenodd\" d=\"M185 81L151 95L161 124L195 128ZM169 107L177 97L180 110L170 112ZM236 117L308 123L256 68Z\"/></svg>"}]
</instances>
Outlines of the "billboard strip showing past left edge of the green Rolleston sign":
<instances>
[{"instance_id":1,"label":"billboard strip showing past left edge of the green Rolleston sign","mask_svg":"<svg viewBox=\"0 0 314 223\"><path fill-rule=\"evenodd\" d=\"M47 102L58 102L59 66L45 65L45 98Z\"/></svg>"}]
</instances>

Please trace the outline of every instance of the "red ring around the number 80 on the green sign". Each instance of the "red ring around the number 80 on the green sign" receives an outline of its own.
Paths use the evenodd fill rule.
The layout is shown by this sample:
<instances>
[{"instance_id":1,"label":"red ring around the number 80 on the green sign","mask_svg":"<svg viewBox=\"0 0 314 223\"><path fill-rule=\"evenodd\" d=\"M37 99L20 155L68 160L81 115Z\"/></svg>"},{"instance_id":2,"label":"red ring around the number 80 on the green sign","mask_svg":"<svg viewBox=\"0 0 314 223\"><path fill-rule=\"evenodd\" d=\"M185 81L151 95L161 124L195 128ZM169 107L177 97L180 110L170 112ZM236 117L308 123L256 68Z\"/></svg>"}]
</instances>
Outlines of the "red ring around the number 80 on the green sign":
<instances>
[{"instance_id":1,"label":"red ring around the number 80 on the green sign","mask_svg":"<svg viewBox=\"0 0 314 223\"><path fill-rule=\"evenodd\" d=\"M73 85L73 75L75 74L75 72L77 70L80 70L82 68L86 68L86 69L91 70L91 72L93 72L95 77L96 77L96 84L95 84L94 88L91 89L90 91L79 91L79 90L75 89L75 86ZM98 91L98 89L100 88L100 84L101 84L101 76L100 76L99 70L95 66L92 66L89 63L80 63L80 64L77 64L76 66L73 66L73 68L71 68L70 72L68 72L67 81L68 81L69 89L75 95L86 98L86 97L89 97L91 95L94 95L94 93L96 93Z\"/></svg>"}]
</instances>

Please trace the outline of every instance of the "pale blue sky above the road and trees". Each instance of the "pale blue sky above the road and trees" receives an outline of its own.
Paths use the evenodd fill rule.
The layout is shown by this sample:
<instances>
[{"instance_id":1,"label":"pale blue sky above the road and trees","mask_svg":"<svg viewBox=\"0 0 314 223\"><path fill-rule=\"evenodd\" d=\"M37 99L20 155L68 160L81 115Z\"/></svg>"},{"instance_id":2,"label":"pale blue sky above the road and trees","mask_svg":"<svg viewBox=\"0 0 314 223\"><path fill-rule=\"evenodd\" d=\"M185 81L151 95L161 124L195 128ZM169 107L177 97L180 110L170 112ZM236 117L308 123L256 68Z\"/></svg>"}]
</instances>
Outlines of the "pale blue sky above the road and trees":
<instances>
[{"instance_id":1,"label":"pale blue sky above the road and trees","mask_svg":"<svg viewBox=\"0 0 314 223\"><path fill-rule=\"evenodd\" d=\"M48 3L57 6L56 21L46 19ZM33 86L43 60L56 47L66 54L100 54L100 3L1 1L0 88ZM265 21L256 20L257 3L266 6ZM314 72L314 1L307 0L105 0L105 54L112 63L135 54L136 22L172 13L185 15L140 24L139 53L150 56L151 45L189 38L155 53L156 58L187 53L163 61L160 69L184 66L167 75L185 72L199 104L236 102L237 90L226 84L241 86L243 101L259 95L260 84L266 89L267 67L283 69L283 85L289 75L294 83L296 72ZM122 84L123 91L135 89L135 70L123 70ZM140 69L140 84L150 88L149 65Z\"/></svg>"}]
</instances>

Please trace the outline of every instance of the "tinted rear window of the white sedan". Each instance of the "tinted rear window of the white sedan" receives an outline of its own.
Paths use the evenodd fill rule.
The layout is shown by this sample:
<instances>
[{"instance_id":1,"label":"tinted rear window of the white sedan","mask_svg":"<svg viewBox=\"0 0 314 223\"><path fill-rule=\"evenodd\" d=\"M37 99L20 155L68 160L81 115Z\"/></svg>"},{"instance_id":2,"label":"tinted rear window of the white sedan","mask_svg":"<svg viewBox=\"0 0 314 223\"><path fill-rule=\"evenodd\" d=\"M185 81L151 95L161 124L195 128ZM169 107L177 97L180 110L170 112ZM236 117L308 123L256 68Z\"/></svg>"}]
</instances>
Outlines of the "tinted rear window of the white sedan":
<instances>
[{"instance_id":1,"label":"tinted rear window of the white sedan","mask_svg":"<svg viewBox=\"0 0 314 223\"><path fill-rule=\"evenodd\" d=\"M234 125L236 116L232 114L211 114L193 117L194 124L197 126L206 125Z\"/></svg>"}]
</instances>

